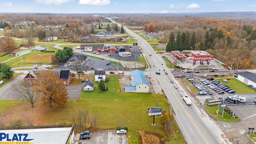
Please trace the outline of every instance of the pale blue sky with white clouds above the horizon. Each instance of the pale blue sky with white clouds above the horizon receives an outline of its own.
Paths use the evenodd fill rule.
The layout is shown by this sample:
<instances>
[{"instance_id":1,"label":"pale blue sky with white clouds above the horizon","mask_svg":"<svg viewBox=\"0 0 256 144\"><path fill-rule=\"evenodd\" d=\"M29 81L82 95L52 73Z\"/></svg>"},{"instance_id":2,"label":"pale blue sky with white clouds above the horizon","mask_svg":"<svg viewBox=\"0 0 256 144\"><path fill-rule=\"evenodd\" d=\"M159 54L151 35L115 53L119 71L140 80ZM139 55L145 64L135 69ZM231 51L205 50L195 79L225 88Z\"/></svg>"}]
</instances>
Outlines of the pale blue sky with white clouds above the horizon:
<instances>
[{"instance_id":1,"label":"pale blue sky with white clouds above the horizon","mask_svg":"<svg viewBox=\"0 0 256 144\"><path fill-rule=\"evenodd\" d=\"M173 13L256 11L256 0L0 0L0 12Z\"/></svg>"}]
</instances>

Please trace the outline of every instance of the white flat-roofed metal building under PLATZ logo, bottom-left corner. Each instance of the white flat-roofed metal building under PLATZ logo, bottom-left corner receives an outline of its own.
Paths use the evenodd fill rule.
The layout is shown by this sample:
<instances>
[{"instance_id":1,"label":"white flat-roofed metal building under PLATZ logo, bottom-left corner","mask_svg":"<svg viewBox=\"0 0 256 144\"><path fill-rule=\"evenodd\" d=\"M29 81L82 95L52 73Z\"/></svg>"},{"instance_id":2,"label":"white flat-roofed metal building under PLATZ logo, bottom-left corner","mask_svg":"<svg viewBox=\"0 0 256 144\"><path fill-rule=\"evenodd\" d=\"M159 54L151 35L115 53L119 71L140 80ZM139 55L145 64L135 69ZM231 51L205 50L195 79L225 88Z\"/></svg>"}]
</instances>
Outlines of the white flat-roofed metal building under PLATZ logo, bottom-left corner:
<instances>
[{"instance_id":1,"label":"white flat-roofed metal building under PLATZ logo, bottom-left corner","mask_svg":"<svg viewBox=\"0 0 256 144\"><path fill-rule=\"evenodd\" d=\"M26 139L32 139L28 142L40 143L40 144L72 144L74 138L74 126L66 128L40 128L40 129L11 129L0 130L0 133L9 134L9 139L12 139L16 134L23 134L21 141L24 138L24 134L27 134ZM19 136L18 136L19 138ZM3 142L7 141L7 138L2 139ZM10 142L10 141L9 141ZM17 141L11 141L16 143Z\"/></svg>"}]
</instances>

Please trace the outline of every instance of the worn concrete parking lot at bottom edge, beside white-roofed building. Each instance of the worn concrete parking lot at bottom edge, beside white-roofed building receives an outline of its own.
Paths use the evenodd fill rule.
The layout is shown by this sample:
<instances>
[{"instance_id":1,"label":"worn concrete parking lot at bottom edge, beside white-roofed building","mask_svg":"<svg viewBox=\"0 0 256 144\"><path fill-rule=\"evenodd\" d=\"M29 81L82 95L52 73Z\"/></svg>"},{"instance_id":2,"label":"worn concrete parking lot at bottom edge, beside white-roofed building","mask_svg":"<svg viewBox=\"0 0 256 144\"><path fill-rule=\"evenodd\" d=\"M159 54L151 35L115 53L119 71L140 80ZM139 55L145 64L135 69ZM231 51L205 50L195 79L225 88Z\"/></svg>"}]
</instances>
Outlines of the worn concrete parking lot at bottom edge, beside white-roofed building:
<instances>
[{"instance_id":1,"label":"worn concrete parking lot at bottom edge, beside white-roofed building","mask_svg":"<svg viewBox=\"0 0 256 144\"><path fill-rule=\"evenodd\" d=\"M126 134L117 134L116 130L103 130L90 134L90 139L79 140L79 144L127 144Z\"/></svg>"}]
</instances>

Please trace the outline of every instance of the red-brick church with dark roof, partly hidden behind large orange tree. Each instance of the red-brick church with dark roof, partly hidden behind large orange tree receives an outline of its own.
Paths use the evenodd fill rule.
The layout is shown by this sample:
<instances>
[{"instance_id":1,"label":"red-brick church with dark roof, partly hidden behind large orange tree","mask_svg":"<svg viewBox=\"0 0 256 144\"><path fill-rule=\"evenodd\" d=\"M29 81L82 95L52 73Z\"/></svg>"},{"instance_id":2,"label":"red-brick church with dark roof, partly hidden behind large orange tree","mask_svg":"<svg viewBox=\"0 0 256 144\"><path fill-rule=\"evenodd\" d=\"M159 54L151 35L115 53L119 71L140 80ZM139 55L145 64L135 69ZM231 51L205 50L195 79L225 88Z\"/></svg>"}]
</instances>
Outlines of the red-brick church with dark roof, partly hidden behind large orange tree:
<instances>
[{"instance_id":1,"label":"red-brick church with dark roof, partly hidden behind large orange tree","mask_svg":"<svg viewBox=\"0 0 256 144\"><path fill-rule=\"evenodd\" d=\"M36 80L38 77L36 76L37 72L40 72L41 70L31 70L28 72L28 74L23 78L24 83L29 83L33 80ZM70 70L60 70L60 69L53 69L50 70L53 72L53 74L57 74L57 76L62 79L65 85L68 85L70 81L72 80L72 74Z\"/></svg>"}]
</instances>

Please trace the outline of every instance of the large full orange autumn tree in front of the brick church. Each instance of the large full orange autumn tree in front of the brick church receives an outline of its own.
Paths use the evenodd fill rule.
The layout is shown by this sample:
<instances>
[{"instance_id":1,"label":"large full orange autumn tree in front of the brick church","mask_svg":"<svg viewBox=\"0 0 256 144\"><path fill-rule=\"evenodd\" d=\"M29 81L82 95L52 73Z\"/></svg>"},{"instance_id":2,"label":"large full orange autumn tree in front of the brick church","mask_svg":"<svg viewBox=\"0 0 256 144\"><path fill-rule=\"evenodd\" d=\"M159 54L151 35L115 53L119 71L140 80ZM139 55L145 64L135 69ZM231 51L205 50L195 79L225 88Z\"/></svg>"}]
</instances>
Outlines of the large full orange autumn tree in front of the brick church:
<instances>
[{"instance_id":1,"label":"large full orange autumn tree in front of the brick church","mask_svg":"<svg viewBox=\"0 0 256 144\"><path fill-rule=\"evenodd\" d=\"M35 74L40 78L38 81L32 81L32 84L33 88L41 93L39 100L42 104L50 108L64 106L69 96L63 80L60 80L59 76L51 70L42 70Z\"/></svg>"}]
</instances>

